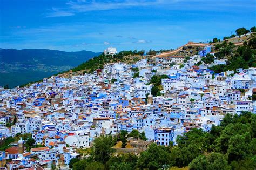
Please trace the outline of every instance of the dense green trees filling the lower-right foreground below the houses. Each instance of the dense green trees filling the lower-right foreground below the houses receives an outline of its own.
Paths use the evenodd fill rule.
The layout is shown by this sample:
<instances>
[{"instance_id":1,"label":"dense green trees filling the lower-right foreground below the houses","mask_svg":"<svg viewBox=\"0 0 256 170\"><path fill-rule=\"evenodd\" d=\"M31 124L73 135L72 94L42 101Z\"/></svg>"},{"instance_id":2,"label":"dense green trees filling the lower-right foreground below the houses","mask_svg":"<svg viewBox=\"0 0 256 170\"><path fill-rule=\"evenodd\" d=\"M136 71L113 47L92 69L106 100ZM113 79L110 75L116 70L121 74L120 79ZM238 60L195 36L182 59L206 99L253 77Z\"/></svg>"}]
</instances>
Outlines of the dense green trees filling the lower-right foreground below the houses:
<instances>
[{"instance_id":1,"label":"dense green trees filling the lower-right foreground below the houses","mask_svg":"<svg viewBox=\"0 0 256 170\"><path fill-rule=\"evenodd\" d=\"M128 136L138 138L133 130ZM178 136L177 146L151 144L139 158L134 154L114 154L116 141L109 135L95 139L91 156L73 164L73 169L253 169L256 166L256 115L226 114L210 132L192 130ZM92 166L93 165L93 166Z\"/></svg>"}]
</instances>

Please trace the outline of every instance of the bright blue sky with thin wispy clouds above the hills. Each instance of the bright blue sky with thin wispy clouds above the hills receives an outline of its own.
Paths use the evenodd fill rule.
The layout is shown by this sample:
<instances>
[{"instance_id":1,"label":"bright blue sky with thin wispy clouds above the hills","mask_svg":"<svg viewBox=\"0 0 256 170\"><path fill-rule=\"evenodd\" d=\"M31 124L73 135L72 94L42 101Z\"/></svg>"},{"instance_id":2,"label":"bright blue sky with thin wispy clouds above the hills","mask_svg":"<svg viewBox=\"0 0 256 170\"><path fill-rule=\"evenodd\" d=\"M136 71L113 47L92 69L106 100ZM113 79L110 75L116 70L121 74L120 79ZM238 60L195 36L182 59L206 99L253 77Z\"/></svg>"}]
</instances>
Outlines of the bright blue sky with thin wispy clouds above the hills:
<instances>
[{"instance_id":1,"label":"bright blue sky with thin wispy clouds above the hills","mask_svg":"<svg viewBox=\"0 0 256 170\"><path fill-rule=\"evenodd\" d=\"M0 0L0 47L172 49L255 26L255 0Z\"/></svg>"}]
</instances>

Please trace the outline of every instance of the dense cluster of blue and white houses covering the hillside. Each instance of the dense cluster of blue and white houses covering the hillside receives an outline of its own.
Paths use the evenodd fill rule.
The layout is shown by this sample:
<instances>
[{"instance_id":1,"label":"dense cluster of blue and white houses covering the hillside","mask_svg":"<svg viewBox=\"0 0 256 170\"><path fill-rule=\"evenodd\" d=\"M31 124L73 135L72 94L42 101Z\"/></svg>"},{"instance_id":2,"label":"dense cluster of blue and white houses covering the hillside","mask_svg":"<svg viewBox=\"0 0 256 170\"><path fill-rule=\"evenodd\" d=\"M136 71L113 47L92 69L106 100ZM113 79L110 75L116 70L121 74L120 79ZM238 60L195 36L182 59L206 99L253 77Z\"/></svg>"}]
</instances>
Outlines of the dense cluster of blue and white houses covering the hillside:
<instances>
[{"instance_id":1,"label":"dense cluster of blue and white houses covering the hillside","mask_svg":"<svg viewBox=\"0 0 256 170\"><path fill-rule=\"evenodd\" d=\"M207 52L185 63L183 56L158 57L155 63L110 63L83 76L52 76L29 87L1 88L0 138L31 133L43 147L27 152L20 139L0 152L0 166L68 165L80 157L76 148L90 147L95 137L121 130L137 129L148 140L167 146L191 128L210 131L226 113L256 113L251 100L256 68L214 74L206 64L194 65ZM139 77L133 78L133 68L138 68ZM152 96L151 77L161 74L168 76L161 80L161 96ZM6 127L15 117L15 125Z\"/></svg>"}]
</instances>

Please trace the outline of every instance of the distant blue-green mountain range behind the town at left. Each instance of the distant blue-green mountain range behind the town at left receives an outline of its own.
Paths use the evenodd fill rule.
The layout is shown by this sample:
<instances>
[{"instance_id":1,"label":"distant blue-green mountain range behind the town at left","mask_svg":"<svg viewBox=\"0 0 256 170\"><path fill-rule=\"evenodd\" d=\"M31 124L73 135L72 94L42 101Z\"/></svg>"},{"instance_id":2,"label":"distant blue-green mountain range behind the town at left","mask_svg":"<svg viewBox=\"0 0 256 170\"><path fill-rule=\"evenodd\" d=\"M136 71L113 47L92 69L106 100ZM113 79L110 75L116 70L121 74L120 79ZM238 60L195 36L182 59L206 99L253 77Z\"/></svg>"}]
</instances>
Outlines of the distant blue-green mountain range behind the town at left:
<instances>
[{"instance_id":1,"label":"distant blue-green mountain range behind the town at left","mask_svg":"<svg viewBox=\"0 0 256 170\"><path fill-rule=\"evenodd\" d=\"M0 49L0 86L15 87L69 70L101 52Z\"/></svg>"}]
</instances>

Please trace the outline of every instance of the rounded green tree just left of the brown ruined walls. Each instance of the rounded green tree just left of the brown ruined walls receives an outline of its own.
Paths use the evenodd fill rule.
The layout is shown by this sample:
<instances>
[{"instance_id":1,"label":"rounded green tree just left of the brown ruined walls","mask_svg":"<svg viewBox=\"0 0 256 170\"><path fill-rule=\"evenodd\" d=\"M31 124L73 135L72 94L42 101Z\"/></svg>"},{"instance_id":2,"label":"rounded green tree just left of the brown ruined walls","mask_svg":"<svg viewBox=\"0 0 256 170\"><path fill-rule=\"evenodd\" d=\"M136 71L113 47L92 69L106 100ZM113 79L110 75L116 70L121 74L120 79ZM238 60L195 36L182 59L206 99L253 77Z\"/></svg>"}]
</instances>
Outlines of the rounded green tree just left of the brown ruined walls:
<instances>
[{"instance_id":1,"label":"rounded green tree just left of the brown ruined walls","mask_svg":"<svg viewBox=\"0 0 256 170\"><path fill-rule=\"evenodd\" d=\"M109 160L110 154L114 152L113 146L114 141L111 135L96 138L93 143L93 160L105 164Z\"/></svg>"}]
</instances>

